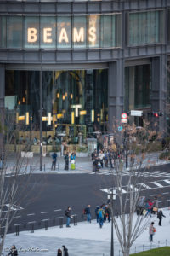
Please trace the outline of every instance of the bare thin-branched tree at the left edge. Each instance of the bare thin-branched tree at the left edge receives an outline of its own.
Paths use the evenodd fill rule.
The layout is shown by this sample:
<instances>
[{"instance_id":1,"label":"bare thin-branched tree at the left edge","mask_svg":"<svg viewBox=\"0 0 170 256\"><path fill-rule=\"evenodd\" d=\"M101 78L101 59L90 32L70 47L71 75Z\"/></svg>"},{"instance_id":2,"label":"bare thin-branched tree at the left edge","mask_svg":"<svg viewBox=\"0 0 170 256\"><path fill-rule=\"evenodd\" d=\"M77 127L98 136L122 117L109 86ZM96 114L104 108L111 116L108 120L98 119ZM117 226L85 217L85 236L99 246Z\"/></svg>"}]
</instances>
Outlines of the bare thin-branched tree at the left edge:
<instances>
[{"instance_id":1,"label":"bare thin-branched tree at the left edge","mask_svg":"<svg viewBox=\"0 0 170 256\"><path fill-rule=\"evenodd\" d=\"M3 252L4 241L8 233L8 228L14 220L14 216L20 209L20 204L26 198L26 188L31 177L29 160L21 158L20 151L12 154L9 150L11 143L16 142L18 131L22 128L20 124L15 123L15 115L6 114L1 111L0 114L0 137L1 137L1 168L0 168L0 254ZM26 144L25 151L30 148ZM20 182L21 179L21 182Z\"/></svg>"}]
</instances>

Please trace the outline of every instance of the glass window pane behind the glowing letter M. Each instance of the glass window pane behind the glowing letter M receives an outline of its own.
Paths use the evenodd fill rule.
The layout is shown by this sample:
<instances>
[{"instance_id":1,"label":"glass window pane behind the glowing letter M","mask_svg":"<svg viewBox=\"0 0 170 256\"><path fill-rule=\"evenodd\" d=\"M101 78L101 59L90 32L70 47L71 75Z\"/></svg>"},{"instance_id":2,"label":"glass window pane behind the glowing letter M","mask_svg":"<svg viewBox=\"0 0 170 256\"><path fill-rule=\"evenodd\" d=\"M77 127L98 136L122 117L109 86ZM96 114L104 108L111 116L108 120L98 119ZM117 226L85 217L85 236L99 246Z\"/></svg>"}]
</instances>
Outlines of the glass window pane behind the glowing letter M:
<instances>
[{"instance_id":1,"label":"glass window pane behind the glowing letter M","mask_svg":"<svg viewBox=\"0 0 170 256\"><path fill-rule=\"evenodd\" d=\"M72 41L74 48L86 48L87 41L87 17L73 17Z\"/></svg>"}]
</instances>

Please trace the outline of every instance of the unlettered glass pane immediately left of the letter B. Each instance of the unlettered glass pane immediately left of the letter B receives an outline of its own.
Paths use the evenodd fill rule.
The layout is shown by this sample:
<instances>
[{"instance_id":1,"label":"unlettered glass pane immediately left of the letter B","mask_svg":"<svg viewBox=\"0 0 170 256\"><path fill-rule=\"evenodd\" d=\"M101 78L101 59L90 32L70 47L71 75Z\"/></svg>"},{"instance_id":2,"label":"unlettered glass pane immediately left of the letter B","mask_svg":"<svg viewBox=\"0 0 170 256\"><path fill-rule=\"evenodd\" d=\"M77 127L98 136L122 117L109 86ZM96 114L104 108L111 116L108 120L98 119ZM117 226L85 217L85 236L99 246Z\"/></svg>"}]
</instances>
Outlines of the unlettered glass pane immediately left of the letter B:
<instances>
[{"instance_id":1,"label":"unlettered glass pane immediately left of the letter B","mask_svg":"<svg viewBox=\"0 0 170 256\"><path fill-rule=\"evenodd\" d=\"M8 17L8 47L22 48L22 17Z\"/></svg>"}]
</instances>

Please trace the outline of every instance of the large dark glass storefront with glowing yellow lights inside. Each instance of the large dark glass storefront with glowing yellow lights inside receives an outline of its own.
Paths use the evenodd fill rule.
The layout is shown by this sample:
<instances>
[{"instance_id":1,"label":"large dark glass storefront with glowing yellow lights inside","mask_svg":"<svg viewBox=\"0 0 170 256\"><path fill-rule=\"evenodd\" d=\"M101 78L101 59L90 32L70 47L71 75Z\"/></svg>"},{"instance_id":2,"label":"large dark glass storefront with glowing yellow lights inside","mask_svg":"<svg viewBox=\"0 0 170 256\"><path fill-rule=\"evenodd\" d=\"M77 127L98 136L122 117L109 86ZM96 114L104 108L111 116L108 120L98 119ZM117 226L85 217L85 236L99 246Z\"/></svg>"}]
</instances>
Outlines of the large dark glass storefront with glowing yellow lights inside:
<instances>
[{"instance_id":1,"label":"large dark glass storefront with glowing yellow lights inside","mask_svg":"<svg viewBox=\"0 0 170 256\"><path fill-rule=\"evenodd\" d=\"M107 130L107 77L107 69L42 71L43 144L76 144L80 134L85 141ZM6 112L19 128L11 143L38 145L40 72L8 70L5 79Z\"/></svg>"}]
</instances>

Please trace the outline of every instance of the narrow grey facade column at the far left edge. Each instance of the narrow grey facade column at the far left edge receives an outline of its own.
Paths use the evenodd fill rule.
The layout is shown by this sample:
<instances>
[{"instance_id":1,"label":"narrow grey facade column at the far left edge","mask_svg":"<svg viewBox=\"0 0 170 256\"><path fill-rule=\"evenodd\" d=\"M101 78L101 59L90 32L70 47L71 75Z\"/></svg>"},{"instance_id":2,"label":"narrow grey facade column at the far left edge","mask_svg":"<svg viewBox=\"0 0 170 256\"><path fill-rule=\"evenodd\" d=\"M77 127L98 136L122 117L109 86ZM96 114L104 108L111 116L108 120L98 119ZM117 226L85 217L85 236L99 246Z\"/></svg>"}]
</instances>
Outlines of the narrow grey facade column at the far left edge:
<instances>
[{"instance_id":1,"label":"narrow grey facade column at the far left edge","mask_svg":"<svg viewBox=\"0 0 170 256\"><path fill-rule=\"evenodd\" d=\"M0 157L4 153L4 100L5 100L5 66L0 64Z\"/></svg>"}]
</instances>

